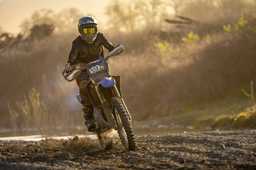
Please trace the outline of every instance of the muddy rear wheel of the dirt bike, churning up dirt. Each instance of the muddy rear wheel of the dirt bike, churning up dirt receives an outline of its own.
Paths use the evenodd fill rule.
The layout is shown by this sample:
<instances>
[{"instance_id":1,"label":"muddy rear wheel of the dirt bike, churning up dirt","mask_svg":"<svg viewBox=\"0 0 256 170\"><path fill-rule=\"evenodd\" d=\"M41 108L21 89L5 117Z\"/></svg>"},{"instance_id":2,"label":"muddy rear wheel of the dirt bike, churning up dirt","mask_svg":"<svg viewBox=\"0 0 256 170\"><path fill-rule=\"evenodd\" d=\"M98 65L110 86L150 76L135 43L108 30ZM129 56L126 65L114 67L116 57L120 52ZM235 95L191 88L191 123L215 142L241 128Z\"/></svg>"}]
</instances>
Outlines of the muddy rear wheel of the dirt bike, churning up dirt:
<instances>
[{"instance_id":1,"label":"muddy rear wheel of the dirt bike, churning up dirt","mask_svg":"<svg viewBox=\"0 0 256 170\"><path fill-rule=\"evenodd\" d=\"M102 149L109 150L113 148L114 141L112 138L111 131L105 131L105 132L98 131L96 134Z\"/></svg>"}]
</instances>

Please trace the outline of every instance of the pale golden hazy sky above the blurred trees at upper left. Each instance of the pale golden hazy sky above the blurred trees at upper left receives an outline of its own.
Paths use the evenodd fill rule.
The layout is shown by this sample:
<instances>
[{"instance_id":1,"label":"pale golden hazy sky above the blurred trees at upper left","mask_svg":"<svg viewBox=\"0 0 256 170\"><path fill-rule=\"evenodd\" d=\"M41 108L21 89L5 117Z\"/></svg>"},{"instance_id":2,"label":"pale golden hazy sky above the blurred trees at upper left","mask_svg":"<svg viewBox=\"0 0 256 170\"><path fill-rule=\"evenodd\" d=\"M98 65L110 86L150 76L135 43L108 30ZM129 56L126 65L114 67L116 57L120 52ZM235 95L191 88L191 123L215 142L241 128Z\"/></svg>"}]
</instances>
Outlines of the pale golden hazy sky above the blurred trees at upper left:
<instances>
[{"instance_id":1,"label":"pale golden hazy sky above the blurred trees at upper left","mask_svg":"<svg viewBox=\"0 0 256 170\"><path fill-rule=\"evenodd\" d=\"M84 15L90 13L97 21L104 21L104 7L110 0L0 0L0 26L11 33L20 31L19 24L29 18L35 10L75 7ZM77 19L78 20L78 19Z\"/></svg>"}]
</instances>

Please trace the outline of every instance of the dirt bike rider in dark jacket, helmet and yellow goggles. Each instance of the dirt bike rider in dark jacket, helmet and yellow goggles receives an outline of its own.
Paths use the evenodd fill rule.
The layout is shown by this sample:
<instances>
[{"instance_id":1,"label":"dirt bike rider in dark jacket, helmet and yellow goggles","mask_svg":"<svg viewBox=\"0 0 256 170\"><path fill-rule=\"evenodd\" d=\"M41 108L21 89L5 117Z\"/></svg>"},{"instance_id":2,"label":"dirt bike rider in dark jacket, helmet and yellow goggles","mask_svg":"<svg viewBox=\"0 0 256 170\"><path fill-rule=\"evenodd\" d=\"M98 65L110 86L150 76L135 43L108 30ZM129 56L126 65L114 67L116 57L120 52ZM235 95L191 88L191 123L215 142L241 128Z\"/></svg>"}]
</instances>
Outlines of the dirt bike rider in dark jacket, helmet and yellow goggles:
<instances>
[{"instance_id":1,"label":"dirt bike rider in dark jacket, helmet and yellow goggles","mask_svg":"<svg viewBox=\"0 0 256 170\"><path fill-rule=\"evenodd\" d=\"M88 64L99 57L104 58L103 46L112 51L113 44L100 32L98 32L98 23L91 16L81 17L78 21L79 36L73 41L72 49L69 54L68 62L65 65L65 71L68 73L72 71L73 64ZM95 119L93 116L93 105L87 95L84 86L89 81L89 76L86 70L82 70L76 78L79 86L79 94L82 99L81 107L84 112L85 124L89 132L96 128Z\"/></svg>"}]
</instances>

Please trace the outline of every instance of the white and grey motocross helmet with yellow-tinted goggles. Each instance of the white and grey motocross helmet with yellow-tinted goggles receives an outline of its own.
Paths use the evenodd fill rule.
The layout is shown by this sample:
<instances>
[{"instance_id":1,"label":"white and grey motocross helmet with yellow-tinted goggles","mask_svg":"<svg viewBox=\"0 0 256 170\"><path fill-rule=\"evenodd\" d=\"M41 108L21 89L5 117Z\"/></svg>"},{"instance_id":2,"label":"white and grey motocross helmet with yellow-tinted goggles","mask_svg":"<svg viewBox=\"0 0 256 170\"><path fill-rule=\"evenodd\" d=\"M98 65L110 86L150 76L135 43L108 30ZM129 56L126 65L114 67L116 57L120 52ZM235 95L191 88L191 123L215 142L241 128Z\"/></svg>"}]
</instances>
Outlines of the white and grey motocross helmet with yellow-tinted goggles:
<instances>
[{"instance_id":1,"label":"white and grey motocross helmet with yellow-tinted goggles","mask_svg":"<svg viewBox=\"0 0 256 170\"><path fill-rule=\"evenodd\" d=\"M92 44L98 34L98 22L92 16L81 17L77 24L78 32L85 42Z\"/></svg>"}]
</instances>

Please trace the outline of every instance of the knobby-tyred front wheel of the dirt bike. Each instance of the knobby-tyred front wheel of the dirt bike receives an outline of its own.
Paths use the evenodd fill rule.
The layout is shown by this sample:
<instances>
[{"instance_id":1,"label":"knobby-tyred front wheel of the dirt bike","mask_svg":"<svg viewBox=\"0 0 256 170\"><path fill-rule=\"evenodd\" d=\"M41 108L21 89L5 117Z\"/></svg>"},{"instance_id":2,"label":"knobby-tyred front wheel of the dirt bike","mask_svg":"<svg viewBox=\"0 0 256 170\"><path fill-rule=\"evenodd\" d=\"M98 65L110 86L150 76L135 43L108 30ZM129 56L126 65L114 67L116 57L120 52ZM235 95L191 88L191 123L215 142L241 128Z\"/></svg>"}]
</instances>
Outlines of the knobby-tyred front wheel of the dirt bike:
<instances>
[{"instance_id":1,"label":"knobby-tyred front wheel of the dirt bike","mask_svg":"<svg viewBox=\"0 0 256 170\"><path fill-rule=\"evenodd\" d=\"M117 124L118 135L124 144L125 149L128 151L134 151L136 149L136 142L131 122L124 106L118 98L112 97L110 100L110 108Z\"/></svg>"}]
</instances>

